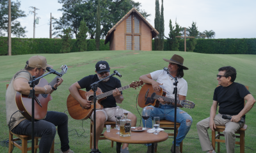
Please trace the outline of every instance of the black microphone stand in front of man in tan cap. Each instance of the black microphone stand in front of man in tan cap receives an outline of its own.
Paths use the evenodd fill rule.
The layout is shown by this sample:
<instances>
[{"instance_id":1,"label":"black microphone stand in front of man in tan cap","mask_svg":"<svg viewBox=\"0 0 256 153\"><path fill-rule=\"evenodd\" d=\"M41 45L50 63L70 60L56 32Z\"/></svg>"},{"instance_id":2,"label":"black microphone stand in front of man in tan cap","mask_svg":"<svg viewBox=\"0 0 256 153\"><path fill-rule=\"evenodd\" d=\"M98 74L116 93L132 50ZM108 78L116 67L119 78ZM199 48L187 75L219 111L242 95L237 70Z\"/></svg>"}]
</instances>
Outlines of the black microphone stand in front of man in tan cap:
<instances>
[{"instance_id":1,"label":"black microphone stand in front of man in tan cap","mask_svg":"<svg viewBox=\"0 0 256 153\"><path fill-rule=\"evenodd\" d=\"M49 74L51 74L52 72L50 71L49 73L46 73L45 75L42 75L41 77L38 77L38 78L36 78L35 76L33 76L33 79L31 80L31 81L29 81L28 82L28 84L29 84L29 86L30 87L32 87L32 89L30 90L30 93L29 93L29 95L28 95L28 98L32 98L31 99L31 103L32 103L32 118L31 118L31 133L32 133L32 135L31 135L31 142L32 142L32 149L31 149L31 151L32 151L32 153L34 153L34 147L35 147L35 145L34 145L34 139L35 139L35 133L34 133L34 122L35 122L35 89L34 89L34 87L35 87L35 83L38 81L38 80L40 80L40 78L43 78L43 77L45 77L46 75L49 75Z\"/></svg>"}]
</instances>

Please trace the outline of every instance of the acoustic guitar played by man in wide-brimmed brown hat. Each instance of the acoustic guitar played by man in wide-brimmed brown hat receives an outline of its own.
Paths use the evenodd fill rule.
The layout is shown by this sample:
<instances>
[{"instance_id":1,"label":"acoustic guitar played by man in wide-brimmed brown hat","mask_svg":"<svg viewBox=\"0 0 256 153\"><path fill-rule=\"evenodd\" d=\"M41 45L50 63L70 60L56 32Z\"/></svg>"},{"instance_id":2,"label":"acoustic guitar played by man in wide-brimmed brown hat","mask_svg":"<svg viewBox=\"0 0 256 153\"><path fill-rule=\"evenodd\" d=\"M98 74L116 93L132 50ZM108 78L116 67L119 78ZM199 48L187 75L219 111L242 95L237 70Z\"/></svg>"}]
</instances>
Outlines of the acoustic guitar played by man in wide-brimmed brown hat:
<instances>
[{"instance_id":1,"label":"acoustic guitar played by man in wide-brimmed brown hat","mask_svg":"<svg viewBox=\"0 0 256 153\"><path fill-rule=\"evenodd\" d=\"M155 107L159 107L158 98L163 98L167 104L172 104L174 106L175 99L165 97L166 93L163 92L163 89L159 91L154 91L151 84L145 84L141 87L140 94L138 96L138 105L141 108L144 108L148 105L153 105ZM195 103L188 100L177 100L177 107L185 107L185 108L194 108Z\"/></svg>"}]
</instances>

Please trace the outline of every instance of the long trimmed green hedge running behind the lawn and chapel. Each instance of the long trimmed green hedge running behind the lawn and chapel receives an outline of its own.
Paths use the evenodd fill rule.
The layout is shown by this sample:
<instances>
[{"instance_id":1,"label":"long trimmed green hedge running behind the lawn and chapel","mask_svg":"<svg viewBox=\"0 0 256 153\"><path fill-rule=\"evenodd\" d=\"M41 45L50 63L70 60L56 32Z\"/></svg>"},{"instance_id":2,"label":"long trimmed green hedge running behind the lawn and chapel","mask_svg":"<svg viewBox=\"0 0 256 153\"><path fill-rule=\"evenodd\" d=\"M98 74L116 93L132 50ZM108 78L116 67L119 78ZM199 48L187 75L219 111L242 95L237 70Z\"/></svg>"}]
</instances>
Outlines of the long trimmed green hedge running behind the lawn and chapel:
<instances>
[{"instance_id":1,"label":"long trimmed green hedge running behind the lawn and chapel","mask_svg":"<svg viewBox=\"0 0 256 153\"><path fill-rule=\"evenodd\" d=\"M0 37L0 55L8 55L8 38ZM57 54L60 53L62 40L49 38L12 38L12 55ZM87 51L95 50L95 40L88 40ZM109 50L109 43L100 40L100 50ZM154 40L152 40L154 50ZM164 50L168 41L164 40ZM184 50L184 40L180 40L179 50ZM79 52L76 40L72 40L70 52ZM243 39L196 39L193 52L205 54L256 54L256 38Z\"/></svg>"}]
</instances>

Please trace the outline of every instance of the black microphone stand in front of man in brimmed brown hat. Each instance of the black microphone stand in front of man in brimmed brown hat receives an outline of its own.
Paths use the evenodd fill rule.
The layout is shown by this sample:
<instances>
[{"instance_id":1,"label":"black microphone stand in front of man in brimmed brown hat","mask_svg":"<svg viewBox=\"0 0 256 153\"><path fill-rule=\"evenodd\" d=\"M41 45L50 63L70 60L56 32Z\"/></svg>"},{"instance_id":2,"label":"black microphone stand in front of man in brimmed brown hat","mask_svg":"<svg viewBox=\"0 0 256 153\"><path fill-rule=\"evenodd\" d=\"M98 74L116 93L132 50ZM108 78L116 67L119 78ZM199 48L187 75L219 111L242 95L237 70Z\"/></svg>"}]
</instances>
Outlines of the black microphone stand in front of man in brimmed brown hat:
<instances>
[{"instance_id":1,"label":"black microphone stand in front of man in brimmed brown hat","mask_svg":"<svg viewBox=\"0 0 256 153\"><path fill-rule=\"evenodd\" d=\"M172 77L172 75L170 75L170 73L167 71L167 74ZM178 80L177 77L172 77L174 82L173 85L175 85L174 89L173 89L173 94L175 94L174 96L174 147L173 147L173 152L176 151L176 118L177 118L177 85L178 85Z\"/></svg>"}]
</instances>

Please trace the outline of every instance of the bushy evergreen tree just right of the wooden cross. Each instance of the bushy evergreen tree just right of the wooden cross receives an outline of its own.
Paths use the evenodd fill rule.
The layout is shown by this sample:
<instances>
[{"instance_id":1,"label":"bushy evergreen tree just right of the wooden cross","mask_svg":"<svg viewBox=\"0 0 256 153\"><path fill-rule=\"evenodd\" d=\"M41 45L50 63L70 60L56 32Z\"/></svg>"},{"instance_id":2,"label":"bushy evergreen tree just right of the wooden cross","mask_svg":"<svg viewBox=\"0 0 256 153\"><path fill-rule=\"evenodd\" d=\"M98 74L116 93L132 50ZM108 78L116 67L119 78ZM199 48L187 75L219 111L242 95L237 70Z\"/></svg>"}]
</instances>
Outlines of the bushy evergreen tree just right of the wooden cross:
<instances>
[{"instance_id":1,"label":"bushy evergreen tree just right of the wooden cross","mask_svg":"<svg viewBox=\"0 0 256 153\"><path fill-rule=\"evenodd\" d=\"M198 36L199 34L199 31L196 27L196 22L193 22L191 27L189 27L188 29L188 33L189 33L189 36ZM187 47L186 47L186 50L188 50L188 52L193 52L193 50L195 49L196 47L196 39L195 38L189 38L189 41L187 41Z\"/></svg>"}]
</instances>

